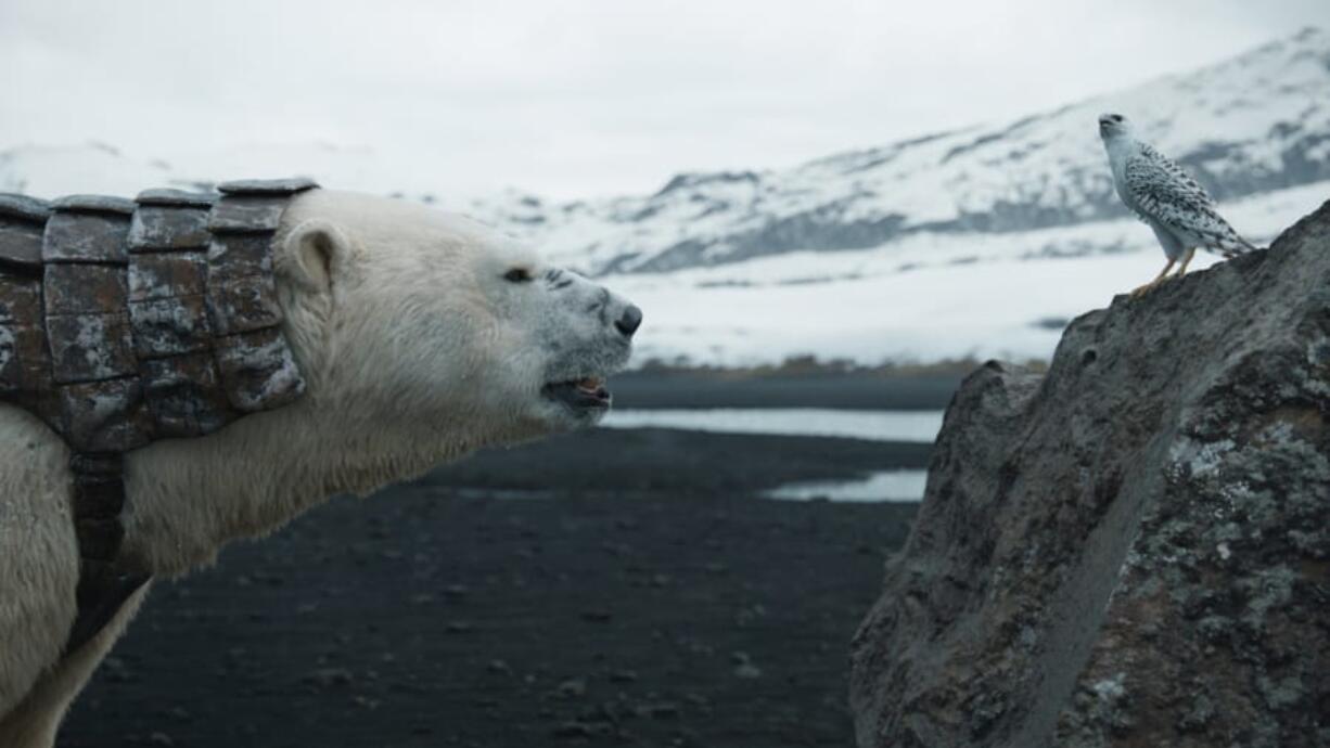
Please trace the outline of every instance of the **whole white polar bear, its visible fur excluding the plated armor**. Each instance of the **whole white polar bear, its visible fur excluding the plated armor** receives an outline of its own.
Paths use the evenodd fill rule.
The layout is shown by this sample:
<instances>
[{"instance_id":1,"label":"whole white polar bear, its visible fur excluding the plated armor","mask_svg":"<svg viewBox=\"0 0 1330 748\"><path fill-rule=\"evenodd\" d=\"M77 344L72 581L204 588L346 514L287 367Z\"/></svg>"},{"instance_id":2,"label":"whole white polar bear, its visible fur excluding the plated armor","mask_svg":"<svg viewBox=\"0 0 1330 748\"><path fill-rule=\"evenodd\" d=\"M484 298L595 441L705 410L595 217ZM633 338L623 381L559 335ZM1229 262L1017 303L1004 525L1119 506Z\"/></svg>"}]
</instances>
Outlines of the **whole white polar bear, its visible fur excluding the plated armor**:
<instances>
[{"instance_id":1,"label":"whole white polar bear, its visible fur excluding the plated armor","mask_svg":"<svg viewBox=\"0 0 1330 748\"><path fill-rule=\"evenodd\" d=\"M641 312L460 215L354 193L293 198L273 242L307 389L222 430L126 456L121 554L157 578L211 563L338 493L477 448L595 424ZM82 647L69 450L0 405L0 745L49 747L148 591Z\"/></svg>"}]
</instances>

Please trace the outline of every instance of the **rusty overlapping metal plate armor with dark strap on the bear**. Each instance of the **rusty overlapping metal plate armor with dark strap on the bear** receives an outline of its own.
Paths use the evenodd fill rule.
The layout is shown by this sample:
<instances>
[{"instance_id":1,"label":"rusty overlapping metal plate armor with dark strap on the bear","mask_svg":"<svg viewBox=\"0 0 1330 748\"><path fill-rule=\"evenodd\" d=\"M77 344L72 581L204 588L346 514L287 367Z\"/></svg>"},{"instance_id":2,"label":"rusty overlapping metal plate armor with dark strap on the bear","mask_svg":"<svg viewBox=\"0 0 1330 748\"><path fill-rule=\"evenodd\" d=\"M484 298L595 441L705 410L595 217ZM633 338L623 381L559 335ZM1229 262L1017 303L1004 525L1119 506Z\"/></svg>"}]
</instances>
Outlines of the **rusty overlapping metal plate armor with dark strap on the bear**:
<instances>
[{"instance_id":1,"label":"rusty overlapping metal plate armor with dark strap on the bear","mask_svg":"<svg viewBox=\"0 0 1330 748\"><path fill-rule=\"evenodd\" d=\"M81 573L68 650L146 574L118 558L122 456L286 405L305 380L281 331L271 242L309 179L136 199L0 194L0 400L74 457Z\"/></svg>"}]
</instances>

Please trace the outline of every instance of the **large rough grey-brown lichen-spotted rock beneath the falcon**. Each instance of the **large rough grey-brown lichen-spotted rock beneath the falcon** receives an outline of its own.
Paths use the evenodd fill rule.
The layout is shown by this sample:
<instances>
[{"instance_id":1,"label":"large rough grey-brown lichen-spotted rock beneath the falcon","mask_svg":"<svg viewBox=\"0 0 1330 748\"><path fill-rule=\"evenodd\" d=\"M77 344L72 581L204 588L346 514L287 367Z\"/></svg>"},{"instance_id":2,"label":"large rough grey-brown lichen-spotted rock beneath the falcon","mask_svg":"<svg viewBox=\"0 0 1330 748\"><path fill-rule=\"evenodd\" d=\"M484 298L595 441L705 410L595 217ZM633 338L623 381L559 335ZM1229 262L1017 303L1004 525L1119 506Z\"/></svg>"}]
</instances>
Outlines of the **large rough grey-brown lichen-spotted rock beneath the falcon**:
<instances>
[{"instance_id":1,"label":"large rough grey-brown lichen-spotted rock beneath the falcon","mask_svg":"<svg viewBox=\"0 0 1330 748\"><path fill-rule=\"evenodd\" d=\"M867 747L1330 745L1330 203L956 393Z\"/></svg>"}]
</instances>

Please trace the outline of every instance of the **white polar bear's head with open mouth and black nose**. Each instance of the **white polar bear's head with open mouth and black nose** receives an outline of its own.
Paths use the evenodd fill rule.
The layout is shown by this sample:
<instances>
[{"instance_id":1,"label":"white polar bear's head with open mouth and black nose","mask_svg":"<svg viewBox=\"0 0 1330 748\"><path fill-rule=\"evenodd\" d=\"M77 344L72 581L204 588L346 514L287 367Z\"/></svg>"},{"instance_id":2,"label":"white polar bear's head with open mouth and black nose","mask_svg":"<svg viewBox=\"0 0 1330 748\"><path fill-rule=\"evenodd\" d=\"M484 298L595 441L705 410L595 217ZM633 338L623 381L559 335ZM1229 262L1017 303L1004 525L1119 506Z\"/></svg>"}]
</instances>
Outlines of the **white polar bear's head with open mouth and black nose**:
<instances>
[{"instance_id":1,"label":"white polar bear's head with open mouth and black nose","mask_svg":"<svg viewBox=\"0 0 1330 748\"><path fill-rule=\"evenodd\" d=\"M598 421L642 319L475 221L354 193L297 197L274 266L306 397L436 457Z\"/></svg>"}]
</instances>

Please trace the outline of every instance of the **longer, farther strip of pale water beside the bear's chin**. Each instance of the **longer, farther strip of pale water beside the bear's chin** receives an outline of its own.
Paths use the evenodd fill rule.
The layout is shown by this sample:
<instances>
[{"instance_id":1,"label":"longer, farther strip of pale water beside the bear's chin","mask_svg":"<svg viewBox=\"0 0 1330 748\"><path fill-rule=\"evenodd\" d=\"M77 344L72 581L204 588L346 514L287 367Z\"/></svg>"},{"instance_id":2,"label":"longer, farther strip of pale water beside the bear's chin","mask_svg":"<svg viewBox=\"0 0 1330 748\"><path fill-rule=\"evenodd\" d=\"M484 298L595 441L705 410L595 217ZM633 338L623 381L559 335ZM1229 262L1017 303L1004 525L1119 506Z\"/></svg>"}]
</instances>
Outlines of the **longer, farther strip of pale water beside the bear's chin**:
<instances>
[{"instance_id":1,"label":"longer, farther strip of pale water beside the bear's chin","mask_svg":"<svg viewBox=\"0 0 1330 748\"><path fill-rule=\"evenodd\" d=\"M931 442L942 428L942 411L837 411L827 408L610 411L601 421L601 426Z\"/></svg>"}]
</instances>

